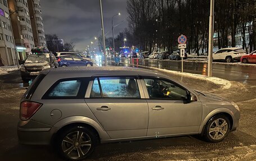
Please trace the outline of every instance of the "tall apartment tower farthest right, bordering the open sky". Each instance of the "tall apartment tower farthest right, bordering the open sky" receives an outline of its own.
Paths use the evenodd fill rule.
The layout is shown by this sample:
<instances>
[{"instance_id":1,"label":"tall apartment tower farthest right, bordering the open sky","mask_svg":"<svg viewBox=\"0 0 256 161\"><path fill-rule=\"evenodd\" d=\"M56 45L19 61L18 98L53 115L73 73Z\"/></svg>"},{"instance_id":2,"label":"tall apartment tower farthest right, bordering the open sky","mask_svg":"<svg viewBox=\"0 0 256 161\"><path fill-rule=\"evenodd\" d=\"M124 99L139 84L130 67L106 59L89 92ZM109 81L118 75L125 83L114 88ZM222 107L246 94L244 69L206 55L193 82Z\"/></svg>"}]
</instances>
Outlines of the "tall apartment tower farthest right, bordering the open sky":
<instances>
[{"instance_id":1,"label":"tall apartment tower farthest right, bordering the open sky","mask_svg":"<svg viewBox=\"0 0 256 161\"><path fill-rule=\"evenodd\" d=\"M28 0L28 5L35 45L46 47L40 1Z\"/></svg>"}]
</instances>

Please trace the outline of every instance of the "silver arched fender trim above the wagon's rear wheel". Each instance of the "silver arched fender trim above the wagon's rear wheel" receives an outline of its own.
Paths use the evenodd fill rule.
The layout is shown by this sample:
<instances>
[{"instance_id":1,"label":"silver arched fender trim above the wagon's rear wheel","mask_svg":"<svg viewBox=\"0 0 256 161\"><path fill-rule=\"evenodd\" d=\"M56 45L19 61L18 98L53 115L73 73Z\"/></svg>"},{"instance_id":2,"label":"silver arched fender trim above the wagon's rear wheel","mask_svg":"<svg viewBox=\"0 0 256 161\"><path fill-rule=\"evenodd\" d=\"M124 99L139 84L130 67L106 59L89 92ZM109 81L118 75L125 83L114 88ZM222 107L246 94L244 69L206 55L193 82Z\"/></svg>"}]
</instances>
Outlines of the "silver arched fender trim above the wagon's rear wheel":
<instances>
[{"instance_id":1,"label":"silver arched fender trim above the wagon's rear wheel","mask_svg":"<svg viewBox=\"0 0 256 161\"><path fill-rule=\"evenodd\" d=\"M100 126L96 121L92 118L84 117L84 116L71 116L66 117L55 123L54 127L61 129L66 125L70 125L72 123L84 123L92 126L99 134L100 140L109 140L111 139L107 132Z\"/></svg>"}]
</instances>

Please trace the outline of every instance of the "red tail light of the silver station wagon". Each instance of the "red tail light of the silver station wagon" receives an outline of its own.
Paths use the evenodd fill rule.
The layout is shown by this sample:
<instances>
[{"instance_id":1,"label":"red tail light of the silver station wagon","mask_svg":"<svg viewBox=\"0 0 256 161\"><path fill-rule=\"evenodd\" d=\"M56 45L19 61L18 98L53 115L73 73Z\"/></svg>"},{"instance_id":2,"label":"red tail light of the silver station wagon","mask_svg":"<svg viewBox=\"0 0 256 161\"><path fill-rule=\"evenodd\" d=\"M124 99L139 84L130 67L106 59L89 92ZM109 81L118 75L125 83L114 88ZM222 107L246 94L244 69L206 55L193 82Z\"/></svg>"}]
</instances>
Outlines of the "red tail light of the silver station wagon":
<instances>
[{"instance_id":1,"label":"red tail light of the silver station wagon","mask_svg":"<svg viewBox=\"0 0 256 161\"><path fill-rule=\"evenodd\" d=\"M20 119L28 120L41 107L41 103L25 101L20 104Z\"/></svg>"}]
</instances>

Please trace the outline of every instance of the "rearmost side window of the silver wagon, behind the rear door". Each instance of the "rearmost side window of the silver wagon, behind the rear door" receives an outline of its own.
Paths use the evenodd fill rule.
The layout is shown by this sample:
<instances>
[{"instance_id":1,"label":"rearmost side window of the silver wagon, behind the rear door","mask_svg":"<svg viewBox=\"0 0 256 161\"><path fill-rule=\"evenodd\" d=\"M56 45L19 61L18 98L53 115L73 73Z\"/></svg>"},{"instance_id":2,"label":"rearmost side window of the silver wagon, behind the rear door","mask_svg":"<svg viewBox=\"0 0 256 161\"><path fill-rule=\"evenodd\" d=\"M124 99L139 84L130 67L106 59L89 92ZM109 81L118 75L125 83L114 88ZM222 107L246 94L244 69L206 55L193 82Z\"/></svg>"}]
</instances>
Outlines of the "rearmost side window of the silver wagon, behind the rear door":
<instances>
[{"instance_id":1,"label":"rearmost side window of the silver wagon, behind the rear door","mask_svg":"<svg viewBox=\"0 0 256 161\"><path fill-rule=\"evenodd\" d=\"M80 85L80 80L61 81L49 92L48 96L77 96Z\"/></svg>"}]
</instances>

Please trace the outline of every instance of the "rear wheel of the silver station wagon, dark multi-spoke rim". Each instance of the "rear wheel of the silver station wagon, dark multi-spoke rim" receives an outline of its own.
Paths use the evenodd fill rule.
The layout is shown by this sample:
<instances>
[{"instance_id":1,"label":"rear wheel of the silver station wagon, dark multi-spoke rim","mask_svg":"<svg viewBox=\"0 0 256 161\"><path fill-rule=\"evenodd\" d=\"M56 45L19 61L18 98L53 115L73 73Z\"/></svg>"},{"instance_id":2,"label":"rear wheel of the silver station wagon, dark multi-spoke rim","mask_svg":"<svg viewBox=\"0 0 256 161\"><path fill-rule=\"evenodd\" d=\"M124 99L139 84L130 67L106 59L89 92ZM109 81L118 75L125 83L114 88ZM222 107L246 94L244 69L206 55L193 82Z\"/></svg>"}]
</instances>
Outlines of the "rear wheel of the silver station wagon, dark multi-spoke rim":
<instances>
[{"instance_id":1,"label":"rear wheel of the silver station wagon, dark multi-spoke rim","mask_svg":"<svg viewBox=\"0 0 256 161\"><path fill-rule=\"evenodd\" d=\"M66 160L84 160L93 152L97 144L94 132L83 126L67 128L56 138L56 150Z\"/></svg>"}]
</instances>

